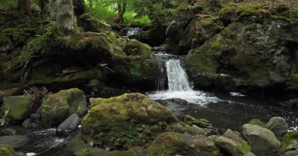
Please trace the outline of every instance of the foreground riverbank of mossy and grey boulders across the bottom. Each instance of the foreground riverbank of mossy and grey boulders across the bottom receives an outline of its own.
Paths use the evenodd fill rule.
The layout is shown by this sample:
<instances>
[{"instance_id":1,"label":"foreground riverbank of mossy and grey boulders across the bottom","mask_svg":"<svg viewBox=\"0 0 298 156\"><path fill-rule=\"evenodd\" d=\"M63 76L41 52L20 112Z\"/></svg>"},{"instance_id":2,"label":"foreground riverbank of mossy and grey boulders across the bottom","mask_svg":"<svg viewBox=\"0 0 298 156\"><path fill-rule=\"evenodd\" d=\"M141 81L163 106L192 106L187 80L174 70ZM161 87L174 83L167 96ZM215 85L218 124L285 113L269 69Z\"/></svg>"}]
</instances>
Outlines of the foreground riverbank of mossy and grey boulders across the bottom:
<instances>
[{"instance_id":1,"label":"foreground riverbank of mossy and grey boulders across the bottom","mask_svg":"<svg viewBox=\"0 0 298 156\"><path fill-rule=\"evenodd\" d=\"M33 112L17 107L30 106L32 99L29 96L5 97L3 108L6 109L0 114L3 118L0 144L7 145L1 145L1 152L17 156L12 148L17 150L31 142L28 137L18 136L16 130L5 128L7 125L23 123L23 127L28 129L41 122L46 127L57 127L57 136L68 136L78 129L79 133L67 143L67 148L76 156L298 154L298 133L288 131L282 117L273 117L268 123L253 119L244 124L239 133L230 129L219 131L206 119L185 116L182 122L168 108L140 93L89 100L90 110L87 113L82 91L62 90L50 94L43 100L40 109ZM36 114L41 118L32 118Z\"/></svg>"}]
</instances>

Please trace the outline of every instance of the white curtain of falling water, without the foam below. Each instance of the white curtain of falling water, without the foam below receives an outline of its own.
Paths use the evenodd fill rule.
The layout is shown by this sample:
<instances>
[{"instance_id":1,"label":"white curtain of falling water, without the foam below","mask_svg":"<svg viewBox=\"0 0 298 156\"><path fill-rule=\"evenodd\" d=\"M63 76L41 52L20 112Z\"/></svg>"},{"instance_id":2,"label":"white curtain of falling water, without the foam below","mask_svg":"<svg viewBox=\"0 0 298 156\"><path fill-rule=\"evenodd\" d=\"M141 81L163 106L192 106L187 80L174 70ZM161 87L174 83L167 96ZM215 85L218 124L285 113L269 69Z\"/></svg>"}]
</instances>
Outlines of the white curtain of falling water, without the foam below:
<instances>
[{"instance_id":1,"label":"white curtain of falling water, without the foam below","mask_svg":"<svg viewBox=\"0 0 298 156\"><path fill-rule=\"evenodd\" d=\"M166 62L169 91L191 91L187 74L179 59L170 59Z\"/></svg>"}]
</instances>

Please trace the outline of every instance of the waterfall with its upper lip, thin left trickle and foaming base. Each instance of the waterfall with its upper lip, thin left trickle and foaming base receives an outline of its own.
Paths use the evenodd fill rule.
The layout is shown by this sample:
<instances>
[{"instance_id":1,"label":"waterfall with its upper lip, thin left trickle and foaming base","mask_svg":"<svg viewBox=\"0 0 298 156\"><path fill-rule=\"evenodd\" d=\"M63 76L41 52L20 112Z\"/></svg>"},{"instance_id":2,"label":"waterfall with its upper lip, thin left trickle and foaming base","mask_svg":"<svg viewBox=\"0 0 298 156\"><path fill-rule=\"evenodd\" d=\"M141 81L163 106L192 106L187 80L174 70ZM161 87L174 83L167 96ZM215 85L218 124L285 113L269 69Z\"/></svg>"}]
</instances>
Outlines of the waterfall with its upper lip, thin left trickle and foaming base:
<instances>
[{"instance_id":1,"label":"waterfall with its upper lip, thin left trickle and foaming base","mask_svg":"<svg viewBox=\"0 0 298 156\"><path fill-rule=\"evenodd\" d=\"M184 99L190 103L206 104L218 102L219 98L209 93L195 91L188 80L187 73L183 68L180 56L166 54L164 48L152 48L152 54L159 63L161 76L156 83L156 92L147 96L155 100L166 100L173 98ZM166 82L168 89L166 90Z\"/></svg>"}]
</instances>

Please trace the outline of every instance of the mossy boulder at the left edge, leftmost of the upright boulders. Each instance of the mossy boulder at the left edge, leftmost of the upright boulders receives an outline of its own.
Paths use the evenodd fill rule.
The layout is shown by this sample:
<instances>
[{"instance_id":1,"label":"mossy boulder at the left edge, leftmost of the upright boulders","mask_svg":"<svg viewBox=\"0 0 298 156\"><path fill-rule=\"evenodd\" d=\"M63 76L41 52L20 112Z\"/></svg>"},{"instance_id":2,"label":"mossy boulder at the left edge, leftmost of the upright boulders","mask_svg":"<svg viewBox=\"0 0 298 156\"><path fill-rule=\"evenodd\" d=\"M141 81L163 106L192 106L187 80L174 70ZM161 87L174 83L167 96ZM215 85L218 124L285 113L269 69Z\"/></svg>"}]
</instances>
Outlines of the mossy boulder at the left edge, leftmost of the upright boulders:
<instances>
[{"instance_id":1,"label":"mossy boulder at the left edge, leftmost of the upright boulders","mask_svg":"<svg viewBox=\"0 0 298 156\"><path fill-rule=\"evenodd\" d=\"M33 99L29 96L5 97L0 116L8 118L10 122L22 123L30 115L30 105Z\"/></svg>"}]
</instances>

